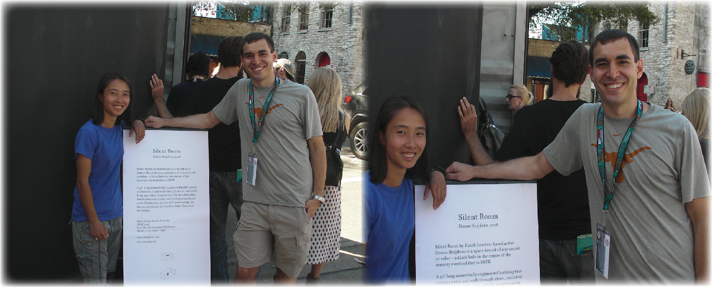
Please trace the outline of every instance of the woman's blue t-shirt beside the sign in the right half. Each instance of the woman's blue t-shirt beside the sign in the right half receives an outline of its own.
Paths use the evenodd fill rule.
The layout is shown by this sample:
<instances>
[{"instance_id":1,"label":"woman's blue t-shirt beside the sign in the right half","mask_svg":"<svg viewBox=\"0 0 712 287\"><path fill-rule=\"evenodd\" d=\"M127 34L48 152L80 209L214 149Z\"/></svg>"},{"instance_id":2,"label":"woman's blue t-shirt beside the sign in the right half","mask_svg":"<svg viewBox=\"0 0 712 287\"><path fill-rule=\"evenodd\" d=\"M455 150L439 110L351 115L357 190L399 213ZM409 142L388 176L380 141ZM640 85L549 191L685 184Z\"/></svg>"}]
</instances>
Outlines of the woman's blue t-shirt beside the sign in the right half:
<instances>
[{"instance_id":1,"label":"woman's blue t-shirt beside the sign in the right half","mask_svg":"<svg viewBox=\"0 0 712 287\"><path fill-rule=\"evenodd\" d=\"M408 252L415 229L413 180L399 187L373 184L365 174L367 215L366 281L409 283Z\"/></svg>"}]
</instances>

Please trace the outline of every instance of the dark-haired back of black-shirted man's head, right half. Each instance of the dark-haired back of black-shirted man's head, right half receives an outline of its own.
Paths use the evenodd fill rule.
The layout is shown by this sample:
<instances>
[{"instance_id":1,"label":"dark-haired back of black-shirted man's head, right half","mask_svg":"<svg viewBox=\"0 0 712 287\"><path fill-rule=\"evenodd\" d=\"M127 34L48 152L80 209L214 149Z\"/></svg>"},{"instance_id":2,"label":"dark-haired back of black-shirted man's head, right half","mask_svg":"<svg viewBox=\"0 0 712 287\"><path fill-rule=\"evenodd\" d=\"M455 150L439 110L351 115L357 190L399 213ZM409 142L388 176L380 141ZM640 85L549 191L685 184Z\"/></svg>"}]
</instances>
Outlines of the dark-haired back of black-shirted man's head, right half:
<instances>
[{"instance_id":1,"label":"dark-haired back of black-shirted man's head, right half","mask_svg":"<svg viewBox=\"0 0 712 287\"><path fill-rule=\"evenodd\" d=\"M564 82L566 87L580 84L588 74L588 52L582 43L575 40L560 43L551 53L551 71L553 77Z\"/></svg>"}]
</instances>

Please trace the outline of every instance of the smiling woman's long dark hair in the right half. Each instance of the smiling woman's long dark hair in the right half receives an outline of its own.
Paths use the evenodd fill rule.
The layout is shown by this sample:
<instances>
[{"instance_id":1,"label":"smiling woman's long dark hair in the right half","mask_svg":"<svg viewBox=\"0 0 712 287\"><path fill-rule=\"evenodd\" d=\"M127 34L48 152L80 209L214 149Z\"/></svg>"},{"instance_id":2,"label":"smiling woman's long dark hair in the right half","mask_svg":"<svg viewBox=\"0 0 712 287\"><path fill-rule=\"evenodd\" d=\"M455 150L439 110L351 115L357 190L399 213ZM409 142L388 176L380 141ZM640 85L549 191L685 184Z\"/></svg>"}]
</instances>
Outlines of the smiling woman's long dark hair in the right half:
<instances>
[{"instance_id":1,"label":"smiling woman's long dark hair in the right half","mask_svg":"<svg viewBox=\"0 0 712 287\"><path fill-rule=\"evenodd\" d=\"M420 158L415 163L415 165L405 172L405 177L409 179L424 179L429 180L429 138L430 130L428 126L428 115L425 112L425 108L413 98L408 98L406 96L392 97L388 98L382 105L380 110L378 110L378 115L376 117L375 131L371 133L371 153L369 155L369 170L371 172L371 182L374 184L379 184L386 179L386 173L388 169L388 164L386 160L386 149L385 146L381 144L379 140L379 135L386 132L386 127L395 115L404 108L413 108L417 110L420 115L422 115L425 121L425 148L420 155Z\"/></svg>"}]
</instances>

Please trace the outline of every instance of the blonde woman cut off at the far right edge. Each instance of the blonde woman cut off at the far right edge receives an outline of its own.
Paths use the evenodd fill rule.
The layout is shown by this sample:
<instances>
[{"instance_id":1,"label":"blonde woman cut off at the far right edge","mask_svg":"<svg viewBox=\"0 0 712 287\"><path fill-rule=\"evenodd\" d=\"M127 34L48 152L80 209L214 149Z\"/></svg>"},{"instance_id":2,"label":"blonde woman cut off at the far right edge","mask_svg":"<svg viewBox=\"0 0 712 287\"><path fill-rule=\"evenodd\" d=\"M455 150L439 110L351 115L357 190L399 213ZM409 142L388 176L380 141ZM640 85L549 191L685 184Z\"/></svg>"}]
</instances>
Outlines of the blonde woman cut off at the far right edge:
<instances>
[{"instance_id":1,"label":"blonde woman cut off at the far right edge","mask_svg":"<svg viewBox=\"0 0 712 287\"><path fill-rule=\"evenodd\" d=\"M668 99L670 101L670 99ZM682 101L682 114L687 117L692 126L695 127L697 138L700 140L702 147L702 157L704 157L707 167L707 174L710 174L709 160L710 136L709 136L709 120L710 120L710 89L696 88L687 95Z\"/></svg>"}]
</instances>

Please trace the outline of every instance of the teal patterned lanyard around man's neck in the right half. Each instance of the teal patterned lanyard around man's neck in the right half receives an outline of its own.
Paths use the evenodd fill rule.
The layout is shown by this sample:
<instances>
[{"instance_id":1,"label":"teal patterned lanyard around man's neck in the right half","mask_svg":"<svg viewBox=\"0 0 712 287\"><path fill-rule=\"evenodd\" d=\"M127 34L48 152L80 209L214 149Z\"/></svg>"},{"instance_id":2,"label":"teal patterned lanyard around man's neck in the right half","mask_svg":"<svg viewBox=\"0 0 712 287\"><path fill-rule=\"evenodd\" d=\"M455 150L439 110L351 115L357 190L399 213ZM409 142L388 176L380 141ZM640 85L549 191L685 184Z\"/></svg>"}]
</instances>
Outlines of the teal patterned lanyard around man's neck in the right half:
<instances>
[{"instance_id":1,"label":"teal patterned lanyard around man's neck in the right half","mask_svg":"<svg viewBox=\"0 0 712 287\"><path fill-rule=\"evenodd\" d=\"M615 192L616 188L616 177L618 176L618 172L620 171L621 163L623 162L623 157L625 155L625 150L628 147L628 142L630 140L630 135L633 132L633 127L635 124L638 122L640 119L640 115L643 113L643 102L638 100L638 113L636 117L630 122L630 125L628 126L628 130L625 133L625 136L623 137L623 140L621 142L620 147L618 148L618 156L616 157L616 162L613 168L613 184L611 187L611 192L608 194L608 197L604 198L603 202L603 226L606 224L606 216L605 214L608 212L608 207L609 204L611 203L611 200L613 200L613 194ZM603 142L603 106L598 109L598 142L597 142L597 155L598 155L598 169L601 172L601 181L603 182L603 189L605 192L606 189L606 165L605 165L605 160L604 160L604 142Z\"/></svg>"}]
</instances>

